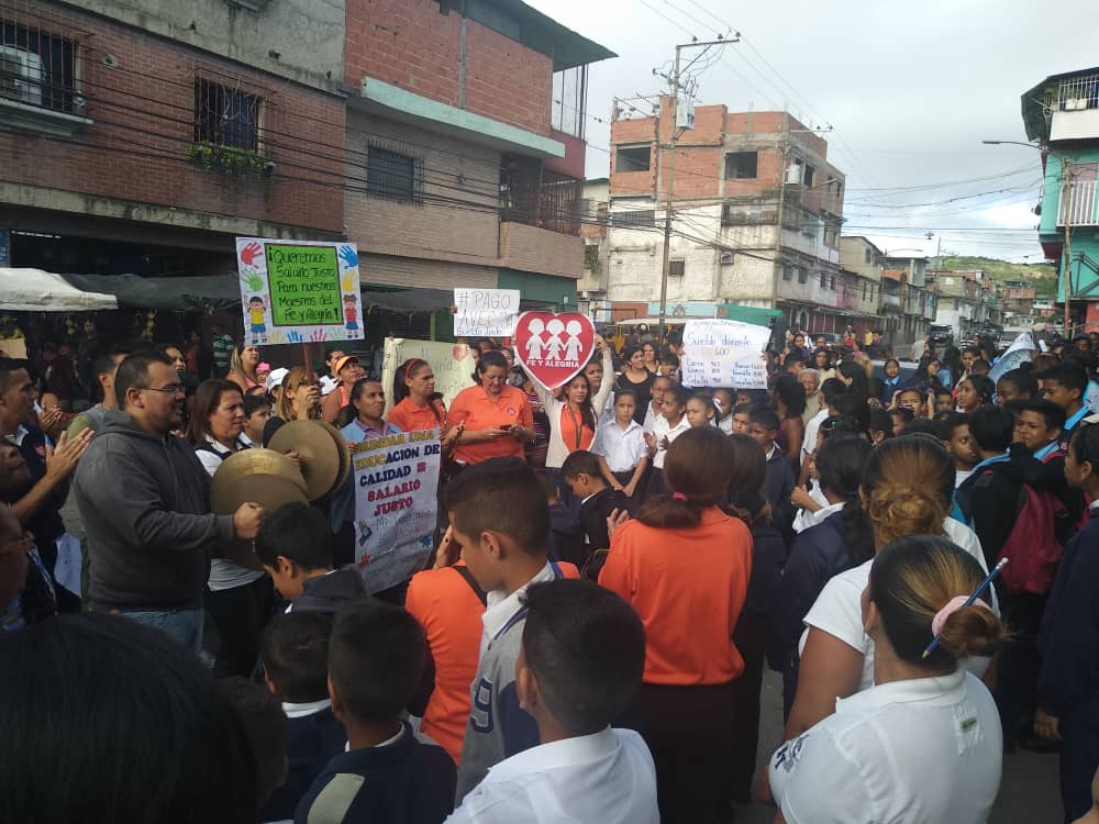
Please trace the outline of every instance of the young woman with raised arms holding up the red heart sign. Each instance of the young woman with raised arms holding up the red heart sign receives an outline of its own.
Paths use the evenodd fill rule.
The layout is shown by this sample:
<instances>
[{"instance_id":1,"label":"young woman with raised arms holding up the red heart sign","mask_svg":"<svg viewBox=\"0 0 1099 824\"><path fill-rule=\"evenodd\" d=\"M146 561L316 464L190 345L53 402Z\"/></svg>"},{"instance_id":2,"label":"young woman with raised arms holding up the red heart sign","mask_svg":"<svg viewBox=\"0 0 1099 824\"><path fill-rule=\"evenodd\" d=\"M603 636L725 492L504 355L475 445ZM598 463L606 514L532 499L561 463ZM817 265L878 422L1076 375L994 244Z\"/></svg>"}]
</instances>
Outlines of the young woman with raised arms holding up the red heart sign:
<instances>
[{"instance_id":1,"label":"young woman with raised arms holding up the red heart sign","mask_svg":"<svg viewBox=\"0 0 1099 824\"><path fill-rule=\"evenodd\" d=\"M596 335L596 352L602 353L602 381L591 386L585 372L574 376L557 392L535 383L534 391L550 419L550 448L546 469L560 469L565 458L577 449L589 449L596 439L596 424L607 407L607 399L614 388L613 363L610 349L600 335Z\"/></svg>"}]
</instances>

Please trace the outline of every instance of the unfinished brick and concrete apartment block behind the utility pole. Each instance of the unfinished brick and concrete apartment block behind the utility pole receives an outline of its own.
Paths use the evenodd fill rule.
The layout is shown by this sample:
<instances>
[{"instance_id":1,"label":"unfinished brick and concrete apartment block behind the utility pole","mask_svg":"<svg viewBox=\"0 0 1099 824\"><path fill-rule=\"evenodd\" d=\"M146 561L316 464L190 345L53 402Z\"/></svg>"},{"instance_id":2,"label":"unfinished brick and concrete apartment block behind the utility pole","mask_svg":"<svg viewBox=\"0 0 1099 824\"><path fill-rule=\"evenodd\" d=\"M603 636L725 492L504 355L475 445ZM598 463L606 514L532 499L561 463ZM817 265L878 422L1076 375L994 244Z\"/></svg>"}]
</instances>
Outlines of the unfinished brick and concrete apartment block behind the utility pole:
<instances>
[{"instance_id":1,"label":"unfinished brick and concrete apartment block behind the utility pole","mask_svg":"<svg viewBox=\"0 0 1099 824\"><path fill-rule=\"evenodd\" d=\"M673 179L668 314L712 307L748 320L779 310L785 324L842 332L840 225L844 176L828 143L785 112L695 109L676 136L670 99L659 114L611 125L608 298L615 313L659 311L663 226ZM629 315L625 315L629 316Z\"/></svg>"}]
</instances>

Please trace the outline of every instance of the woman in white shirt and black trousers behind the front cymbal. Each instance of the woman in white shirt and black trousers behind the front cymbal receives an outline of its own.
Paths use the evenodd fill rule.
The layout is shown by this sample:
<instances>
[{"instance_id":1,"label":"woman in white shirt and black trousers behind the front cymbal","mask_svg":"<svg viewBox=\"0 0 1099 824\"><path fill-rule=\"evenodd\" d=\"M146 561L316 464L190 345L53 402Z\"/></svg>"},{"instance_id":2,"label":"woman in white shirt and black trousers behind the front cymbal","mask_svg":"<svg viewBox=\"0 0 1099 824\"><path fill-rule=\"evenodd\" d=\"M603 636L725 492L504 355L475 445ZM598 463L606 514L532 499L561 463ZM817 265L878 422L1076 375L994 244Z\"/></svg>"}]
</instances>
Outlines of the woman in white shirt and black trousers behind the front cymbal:
<instances>
[{"instance_id":1,"label":"woman in white shirt and black trousers behind the front cymbal","mask_svg":"<svg viewBox=\"0 0 1099 824\"><path fill-rule=\"evenodd\" d=\"M227 380L207 380L195 391L188 438L195 454L211 477L233 453L246 449L244 398L241 388ZM223 547L227 549L227 547ZM220 557L219 557L220 555ZM210 559L210 595L207 605L218 627L221 644L213 671L220 678L247 678L259 657L259 633L275 608L270 578L259 567L246 567L214 553Z\"/></svg>"}]
</instances>

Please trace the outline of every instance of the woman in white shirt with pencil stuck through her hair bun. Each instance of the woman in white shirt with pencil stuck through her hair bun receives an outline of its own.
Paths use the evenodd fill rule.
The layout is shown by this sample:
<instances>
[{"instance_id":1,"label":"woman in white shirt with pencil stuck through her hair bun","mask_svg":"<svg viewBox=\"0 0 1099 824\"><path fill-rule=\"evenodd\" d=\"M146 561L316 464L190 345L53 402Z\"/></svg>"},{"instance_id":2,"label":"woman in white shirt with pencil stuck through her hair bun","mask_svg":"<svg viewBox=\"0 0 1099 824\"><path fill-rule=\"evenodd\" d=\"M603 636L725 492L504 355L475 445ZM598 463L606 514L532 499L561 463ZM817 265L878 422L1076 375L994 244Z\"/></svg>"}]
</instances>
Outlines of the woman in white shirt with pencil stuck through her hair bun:
<instances>
[{"instance_id":1,"label":"woman in white shirt with pencil stuck through her hair bun","mask_svg":"<svg viewBox=\"0 0 1099 824\"><path fill-rule=\"evenodd\" d=\"M991 656L1004 637L988 603L965 605L985 577L941 537L901 538L878 553L861 606L877 649L874 687L837 701L774 755L776 822L988 821L1000 720L988 689L961 666Z\"/></svg>"}]
</instances>

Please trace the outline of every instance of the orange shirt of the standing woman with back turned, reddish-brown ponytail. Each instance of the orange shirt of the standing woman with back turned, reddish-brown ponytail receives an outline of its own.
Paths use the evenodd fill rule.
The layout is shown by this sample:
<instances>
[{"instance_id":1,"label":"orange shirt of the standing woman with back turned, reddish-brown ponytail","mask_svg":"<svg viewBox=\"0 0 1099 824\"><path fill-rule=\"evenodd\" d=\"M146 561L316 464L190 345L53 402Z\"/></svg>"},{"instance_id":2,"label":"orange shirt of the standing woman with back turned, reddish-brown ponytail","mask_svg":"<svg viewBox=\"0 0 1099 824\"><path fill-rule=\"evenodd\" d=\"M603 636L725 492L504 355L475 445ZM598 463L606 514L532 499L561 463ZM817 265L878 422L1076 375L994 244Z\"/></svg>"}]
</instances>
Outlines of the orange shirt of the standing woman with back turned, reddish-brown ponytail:
<instances>
[{"instance_id":1,"label":"orange shirt of the standing woman with back turned, reddish-brown ponytail","mask_svg":"<svg viewBox=\"0 0 1099 824\"><path fill-rule=\"evenodd\" d=\"M733 630L752 574L752 533L717 506L692 528L629 521L614 531L599 583L645 625L645 683L725 683L744 659Z\"/></svg>"}]
</instances>

